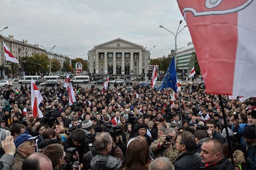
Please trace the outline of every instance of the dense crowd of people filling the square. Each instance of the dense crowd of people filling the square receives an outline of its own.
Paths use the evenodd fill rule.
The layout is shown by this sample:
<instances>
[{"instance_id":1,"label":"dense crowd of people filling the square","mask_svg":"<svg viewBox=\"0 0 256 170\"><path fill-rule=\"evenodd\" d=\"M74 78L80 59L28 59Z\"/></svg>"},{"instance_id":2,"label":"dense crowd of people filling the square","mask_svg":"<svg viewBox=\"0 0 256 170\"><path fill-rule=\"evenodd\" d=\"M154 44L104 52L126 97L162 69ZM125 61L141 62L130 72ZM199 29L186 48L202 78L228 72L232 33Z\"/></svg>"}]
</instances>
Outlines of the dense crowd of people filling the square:
<instances>
[{"instance_id":1,"label":"dense crowd of people filling the square","mask_svg":"<svg viewBox=\"0 0 256 170\"><path fill-rule=\"evenodd\" d=\"M256 170L256 100L172 89L74 85L40 89L43 118L29 88L0 88L0 167L5 170ZM228 123L231 150L224 119ZM234 157L234 164L231 163Z\"/></svg>"}]
</instances>

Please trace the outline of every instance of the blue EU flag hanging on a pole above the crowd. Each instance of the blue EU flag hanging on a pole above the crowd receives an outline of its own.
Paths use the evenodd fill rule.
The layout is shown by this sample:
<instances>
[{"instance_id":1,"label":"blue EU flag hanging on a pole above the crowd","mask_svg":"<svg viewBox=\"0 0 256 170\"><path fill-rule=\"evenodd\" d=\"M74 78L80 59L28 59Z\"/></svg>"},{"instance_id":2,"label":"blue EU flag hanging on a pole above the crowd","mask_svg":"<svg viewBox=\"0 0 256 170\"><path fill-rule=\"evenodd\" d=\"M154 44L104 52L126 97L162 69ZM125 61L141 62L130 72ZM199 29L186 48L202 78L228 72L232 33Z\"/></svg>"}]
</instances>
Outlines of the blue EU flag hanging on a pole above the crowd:
<instances>
[{"instance_id":1,"label":"blue EU flag hanging on a pole above the crowd","mask_svg":"<svg viewBox=\"0 0 256 170\"><path fill-rule=\"evenodd\" d=\"M174 92L177 92L177 73L175 69L175 59L174 57L171 60L171 63L167 69L167 72L163 78L162 85L159 90L163 90L165 88L172 88Z\"/></svg>"}]
</instances>

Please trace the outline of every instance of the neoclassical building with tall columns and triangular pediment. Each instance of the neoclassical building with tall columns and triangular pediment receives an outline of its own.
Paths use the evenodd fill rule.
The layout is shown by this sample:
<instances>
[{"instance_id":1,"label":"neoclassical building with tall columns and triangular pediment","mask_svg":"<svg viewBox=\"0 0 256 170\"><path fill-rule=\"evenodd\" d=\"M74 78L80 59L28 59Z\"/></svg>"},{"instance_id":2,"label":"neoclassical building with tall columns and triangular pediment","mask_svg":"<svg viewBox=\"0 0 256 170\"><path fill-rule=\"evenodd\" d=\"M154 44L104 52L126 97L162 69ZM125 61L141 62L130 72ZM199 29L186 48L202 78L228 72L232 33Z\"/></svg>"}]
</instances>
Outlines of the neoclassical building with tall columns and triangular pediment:
<instances>
[{"instance_id":1,"label":"neoclassical building with tall columns and triangular pediment","mask_svg":"<svg viewBox=\"0 0 256 170\"><path fill-rule=\"evenodd\" d=\"M124 39L114 39L88 51L89 73L142 74L148 69L149 51Z\"/></svg>"}]
</instances>

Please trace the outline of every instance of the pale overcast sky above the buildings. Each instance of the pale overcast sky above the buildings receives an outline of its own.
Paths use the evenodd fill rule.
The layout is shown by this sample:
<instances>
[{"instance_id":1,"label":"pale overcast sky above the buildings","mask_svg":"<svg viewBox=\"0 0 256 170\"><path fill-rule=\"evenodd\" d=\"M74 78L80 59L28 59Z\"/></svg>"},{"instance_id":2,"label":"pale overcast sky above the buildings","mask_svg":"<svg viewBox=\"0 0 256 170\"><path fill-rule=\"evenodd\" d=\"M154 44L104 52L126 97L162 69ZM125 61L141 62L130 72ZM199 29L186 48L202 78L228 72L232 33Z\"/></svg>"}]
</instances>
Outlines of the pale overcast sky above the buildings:
<instances>
[{"instance_id":1,"label":"pale overcast sky above the buildings","mask_svg":"<svg viewBox=\"0 0 256 170\"><path fill-rule=\"evenodd\" d=\"M174 36L183 17L176 0L1 0L4 36L28 40L54 52L87 59L93 46L120 37L150 49L151 58L175 48ZM181 28L186 23L183 20ZM188 28L177 48L191 41Z\"/></svg>"}]
</instances>

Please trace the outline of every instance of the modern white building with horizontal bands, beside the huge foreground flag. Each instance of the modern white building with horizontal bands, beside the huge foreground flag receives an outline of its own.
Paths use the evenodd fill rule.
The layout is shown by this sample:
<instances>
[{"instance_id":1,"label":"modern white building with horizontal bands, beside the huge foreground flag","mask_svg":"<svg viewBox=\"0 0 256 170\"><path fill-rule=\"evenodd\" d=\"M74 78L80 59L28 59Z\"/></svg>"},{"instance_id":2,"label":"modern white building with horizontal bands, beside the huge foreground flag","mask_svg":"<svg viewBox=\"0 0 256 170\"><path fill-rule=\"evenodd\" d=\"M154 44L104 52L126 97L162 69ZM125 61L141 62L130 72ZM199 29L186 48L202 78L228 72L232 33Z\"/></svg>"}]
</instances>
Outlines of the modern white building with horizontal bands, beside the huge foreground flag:
<instances>
[{"instance_id":1,"label":"modern white building with horizontal bands, beside the huge foreground flag","mask_svg":"<svg viewBox=\"0 0 256 170\"><path fill-rule=\"evenodd\" d=\"M178 73L188 74L192 67L195 66L195 56L193 56L195 48L193 42L187 43L187 46L177 50L176 65Z\"/></svg>"}]
</instances>

